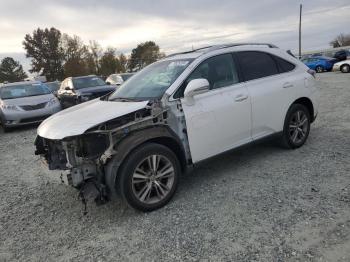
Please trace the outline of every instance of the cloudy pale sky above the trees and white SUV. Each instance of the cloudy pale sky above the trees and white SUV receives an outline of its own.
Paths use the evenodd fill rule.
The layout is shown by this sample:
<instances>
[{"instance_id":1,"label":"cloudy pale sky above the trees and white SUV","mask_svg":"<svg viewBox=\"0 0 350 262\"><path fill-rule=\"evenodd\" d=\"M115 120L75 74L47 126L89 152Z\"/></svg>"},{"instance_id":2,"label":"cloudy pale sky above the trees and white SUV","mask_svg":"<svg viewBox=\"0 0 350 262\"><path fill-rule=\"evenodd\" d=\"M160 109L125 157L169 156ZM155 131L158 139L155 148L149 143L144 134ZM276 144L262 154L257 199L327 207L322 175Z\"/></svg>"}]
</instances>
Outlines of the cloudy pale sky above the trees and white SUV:
<instances>
[{"instance_id":1,"label":"cloudy pale sky above the trees and white SUV","mask_svg":"<svg viewBox=\"0 0 350 262\"><path fill-rule=\"evenodd\" d=\"M327 48L338 34L350 33L349 0L0 0L0 59L12 56L27 70L22 41L38 27L125 53L148 40L167 54L231 42L296 51L299 4L304 51Z\"/></svg>"}]
</instances>

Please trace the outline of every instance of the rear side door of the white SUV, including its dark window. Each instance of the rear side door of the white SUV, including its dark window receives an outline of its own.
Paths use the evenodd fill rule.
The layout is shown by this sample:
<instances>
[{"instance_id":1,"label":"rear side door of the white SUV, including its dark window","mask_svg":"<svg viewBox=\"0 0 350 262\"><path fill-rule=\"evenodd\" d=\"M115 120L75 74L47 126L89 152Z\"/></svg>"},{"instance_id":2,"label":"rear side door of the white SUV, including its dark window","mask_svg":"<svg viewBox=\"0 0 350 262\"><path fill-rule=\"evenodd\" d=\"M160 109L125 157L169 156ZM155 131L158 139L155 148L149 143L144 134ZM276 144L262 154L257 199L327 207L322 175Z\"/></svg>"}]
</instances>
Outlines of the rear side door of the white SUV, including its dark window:
<instances>
[{"instance_id":1,"label":"rear side door of the white SUV, including its dark window","mask_svg":"<svg viewBox=\"0 0 350 262\"><path fill-rule=\"evenodd\" d=\"M295 85L303 84L292 72L295 65L260 51L237 52L235 56L251 96L253 140L281 131L296 98Z\"/></svg>"}]
</instances>

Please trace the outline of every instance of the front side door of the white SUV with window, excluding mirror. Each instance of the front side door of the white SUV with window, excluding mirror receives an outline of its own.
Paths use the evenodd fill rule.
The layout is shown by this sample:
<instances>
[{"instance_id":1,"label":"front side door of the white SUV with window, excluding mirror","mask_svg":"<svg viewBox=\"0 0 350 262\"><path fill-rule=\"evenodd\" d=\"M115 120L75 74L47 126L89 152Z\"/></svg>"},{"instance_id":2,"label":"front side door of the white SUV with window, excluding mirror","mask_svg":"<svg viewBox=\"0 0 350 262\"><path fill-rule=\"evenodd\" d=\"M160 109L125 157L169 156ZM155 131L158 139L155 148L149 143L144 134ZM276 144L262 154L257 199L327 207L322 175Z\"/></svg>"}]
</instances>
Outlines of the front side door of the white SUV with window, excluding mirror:
<instances>
[{"instance_id":1,"label":"front side door of the white SUV with window, excluding mirror","mask_svg":"<svg viewBox=\"0 0 350 262\"><path fill-rule=\"evenodd\" d=\"M232 55L203 61L183 86L198 78L207 79L210 90L194 96L193 105L181 100L194 163L251 141L250 97Z\"/></svg>"}]
</instances>

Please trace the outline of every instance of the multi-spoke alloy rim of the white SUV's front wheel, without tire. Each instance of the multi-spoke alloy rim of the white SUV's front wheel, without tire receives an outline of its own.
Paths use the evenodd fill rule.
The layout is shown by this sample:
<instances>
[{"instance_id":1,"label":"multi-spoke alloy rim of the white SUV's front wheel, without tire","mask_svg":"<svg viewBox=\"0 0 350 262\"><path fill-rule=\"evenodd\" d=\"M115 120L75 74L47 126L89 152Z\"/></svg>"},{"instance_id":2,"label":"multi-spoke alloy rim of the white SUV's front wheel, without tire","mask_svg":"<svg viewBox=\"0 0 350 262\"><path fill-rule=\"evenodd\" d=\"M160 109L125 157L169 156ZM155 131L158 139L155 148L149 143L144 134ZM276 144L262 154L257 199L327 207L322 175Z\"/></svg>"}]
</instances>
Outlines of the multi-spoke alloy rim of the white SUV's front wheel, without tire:
<instances>
[{"instance_id":1,"label":"multi-spoke alloy rim of the white SUV's front wheel, without tire","mask_svg":"<svg viewBox=\"0 0 350 262\"><path fill-rule=\"evenodd\" d=\"M150 155L143 159L132 175L132 190L136 198L145 204L163 200L174 185L175 168L162 155Z\"/></svg>"}]
</instances>

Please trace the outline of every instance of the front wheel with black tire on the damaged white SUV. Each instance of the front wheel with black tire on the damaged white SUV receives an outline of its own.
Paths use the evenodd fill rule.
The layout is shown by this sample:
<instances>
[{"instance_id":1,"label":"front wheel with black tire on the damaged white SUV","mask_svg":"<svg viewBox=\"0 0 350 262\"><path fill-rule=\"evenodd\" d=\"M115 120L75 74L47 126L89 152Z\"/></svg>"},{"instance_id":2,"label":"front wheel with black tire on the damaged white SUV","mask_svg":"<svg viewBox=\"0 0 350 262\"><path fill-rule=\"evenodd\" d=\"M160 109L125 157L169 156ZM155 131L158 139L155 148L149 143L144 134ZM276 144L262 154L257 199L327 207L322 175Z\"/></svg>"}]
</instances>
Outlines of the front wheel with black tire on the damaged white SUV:
<instances>
[{"instance_id":1,"label":"front wheel with black tire on the damaged white SUV","mask_svg":"<svg viewBox=\"0 0 350 262\"><path fill-rule=\"evenodd\" d=\"M152 180L151 181L151 175L147 176L148 180L147 182L138 182L134 179L139 179L139 178L135 178L135 174L136 169L140 170L142 169L142 163L144 163L144 165L146 166L146 164L148 165L149 163L147 162L147 158L152 157L152 156L159 156L161 160L159 160L159 164L157 163L157 167L160 167L162 164L162 161L164 161L165 163L170 163L173 167L174 170L174 176L172 176L171 178L163 178L163 182L160 182L158 184L159 181L161 181L161 179L158 181L156 180ZM166 160L168 160L169 162L166 162ZM147 163L145 163L145 161ZM163 166L166 167L166 166ZM151 167L150 167L151 168ZM152 168L151 168L152 169ZM145 169L142 169L142 171L145 171ZM156 168L156 170L158 170ZM160 170L159 170L160 171ZM150 212L153 210L156 210L158 208L163 207L164 205L166 205L171 198L174 196L176 188L177 188L177 184L178 184L178 178L180 176L181 173L181 167L180 167L180 163L178 158L176 157L176 155L174 154L173 151L171 151L168 147L165 147L163 145L160 144L156 144L156 143L147 143L144 144L142 146L140 146L139 148L137 148L136 150L134 150L132 153L130 153L130 155L124 160L120 172L118 174L118 178L117 178L117 187L118 187L118 191L120 193L120 195L123 197L123 199L133 208L143 211L143 212ZM144 173L140 173L140 174L144 174ZM157 172L158 174L158 172ZM172 172L171 172L172 174ZM156 174L153 173L153 179L155 179ZM144 178L142 178L143 180L141 181L146 181ZM171 179L171 186L169 187L169 179ZM158 182L155 182L158 181ZM162 187L160 185L163 185L164 181L166 181L165 183L167 183L166 187ZM143 184L144 183L144 184ZM148 185L150 185L150 187L148 187ZM137 192L137 188L139 187L139 192ZM144 188L145 191L143 190ZM150 188L150 189L148 189ZM161 188L162 192L164 192L164 189L166 188L167 194L162 195L161 197L163 198L158 198L159 196L159 192ZM142 198L142 196L146 193L146 191L148 190L149 193L147 193L147 199L148 199L148 203L146 203L146 199L144 199L144 201L140 200ZM144 193L142 193L144 192ZM139 196L138 196L139 193ZM141 195L141 197L140 197ZM155 197L156 196L156 197ZM146 197L144 197L146 198ZM159 200L159 201L157 201ZM154 201L154 202L152 202Z\"/></svg>"}]
</instances>

